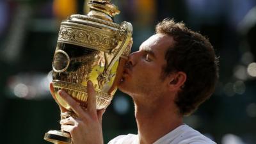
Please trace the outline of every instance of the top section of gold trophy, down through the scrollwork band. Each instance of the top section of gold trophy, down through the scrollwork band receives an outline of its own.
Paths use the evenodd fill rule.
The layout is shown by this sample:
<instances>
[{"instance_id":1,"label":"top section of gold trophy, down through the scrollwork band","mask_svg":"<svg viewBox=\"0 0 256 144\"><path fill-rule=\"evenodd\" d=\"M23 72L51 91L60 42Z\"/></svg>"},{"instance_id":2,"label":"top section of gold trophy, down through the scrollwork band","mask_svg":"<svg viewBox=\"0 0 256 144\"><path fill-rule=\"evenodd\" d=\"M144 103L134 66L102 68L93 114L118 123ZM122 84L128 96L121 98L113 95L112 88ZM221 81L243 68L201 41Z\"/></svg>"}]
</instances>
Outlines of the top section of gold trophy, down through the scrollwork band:
<instances>
[{"instance_id":1,"label":"top section of gold trophy, down through the scrollwork band","mask_svg":"<svg viewBox=\"0 0 256 144\"><path fill-rule=\"evenodd\" d=\"M127 45L126 39L131 38L131 24L113 22L120 11L110 0L91 0L88 4L90 12L87 15L71 15L61 22L58 42L104 52L124 51L125 48L118 49Z\"/></svg>"}]
</instances>

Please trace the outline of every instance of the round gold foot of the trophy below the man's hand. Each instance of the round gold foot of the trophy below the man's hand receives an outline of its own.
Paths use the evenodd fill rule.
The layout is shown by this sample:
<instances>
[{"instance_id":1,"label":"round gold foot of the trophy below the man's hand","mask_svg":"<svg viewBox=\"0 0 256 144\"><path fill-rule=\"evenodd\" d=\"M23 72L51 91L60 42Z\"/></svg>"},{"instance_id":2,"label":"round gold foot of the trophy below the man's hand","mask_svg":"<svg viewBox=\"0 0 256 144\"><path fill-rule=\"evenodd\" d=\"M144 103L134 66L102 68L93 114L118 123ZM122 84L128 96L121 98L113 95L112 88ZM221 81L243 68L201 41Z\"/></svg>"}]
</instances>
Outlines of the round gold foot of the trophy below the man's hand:
<instances>
[{"instance_id":1,"label":"round gold foot of the trophy below the man's hand","mask_svg":"<svg viewBox=\"0 0 256 144\"><path fill-rule=\"evenodd\" d=\"M68 132L48 131L44 135L44 140L55 144L72 144L71 136Z\"/></svg>"}]
</instances>

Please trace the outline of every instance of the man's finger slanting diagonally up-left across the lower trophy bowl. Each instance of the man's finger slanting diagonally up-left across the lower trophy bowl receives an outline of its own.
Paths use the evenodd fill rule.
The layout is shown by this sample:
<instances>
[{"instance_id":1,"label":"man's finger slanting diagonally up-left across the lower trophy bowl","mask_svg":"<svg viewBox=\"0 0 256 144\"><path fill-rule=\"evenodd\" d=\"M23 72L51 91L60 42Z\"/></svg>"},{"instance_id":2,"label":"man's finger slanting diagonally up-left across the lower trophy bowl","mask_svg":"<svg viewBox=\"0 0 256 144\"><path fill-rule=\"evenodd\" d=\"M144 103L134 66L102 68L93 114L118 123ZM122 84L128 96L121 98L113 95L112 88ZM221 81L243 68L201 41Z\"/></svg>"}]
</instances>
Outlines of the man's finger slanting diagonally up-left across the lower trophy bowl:
<instances>
[{"instance_id":1,"label":"man's finger slanting diagonally up-left across the lower trophy bowl","mask_svg":"<svg viewBox=\"0 0 256 144\"><path fill-rule=\"evenodd\" d=\"M63 100L67 102L67 104L70 106L70 108L76 113L77 116L83 116L83 109L79 106L79 103L76 102L76 100L72 99L68 93L66 93L64 90L59 90L59 95Z\"/></svg>"}]
</instances>

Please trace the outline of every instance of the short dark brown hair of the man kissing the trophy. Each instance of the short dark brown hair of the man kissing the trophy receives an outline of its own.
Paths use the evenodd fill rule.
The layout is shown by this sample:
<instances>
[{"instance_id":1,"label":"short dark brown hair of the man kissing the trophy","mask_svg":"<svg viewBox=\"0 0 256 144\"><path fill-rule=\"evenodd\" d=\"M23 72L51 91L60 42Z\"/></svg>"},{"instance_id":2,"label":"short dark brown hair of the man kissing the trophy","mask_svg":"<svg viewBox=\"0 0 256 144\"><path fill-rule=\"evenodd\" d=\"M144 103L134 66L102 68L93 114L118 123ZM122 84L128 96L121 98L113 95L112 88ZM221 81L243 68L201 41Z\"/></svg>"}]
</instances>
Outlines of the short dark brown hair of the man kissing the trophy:
<instances>
[{"instance_id":1,"label":"short dark brown hair of the man kissing the trophy","mask_svg":"<svg viewBox=\"0 0 256 144\"><path fill-rule=\"evenodd\" d=\"M214 92L218 81L218 58L209 40L188 29L183 22L164 19L157 24L156 33L172 36L175 41L166 51L163 77L172 72L186 73L186 82L175 104L180 114L190 115Z\"/></svg>"}]
</instances>

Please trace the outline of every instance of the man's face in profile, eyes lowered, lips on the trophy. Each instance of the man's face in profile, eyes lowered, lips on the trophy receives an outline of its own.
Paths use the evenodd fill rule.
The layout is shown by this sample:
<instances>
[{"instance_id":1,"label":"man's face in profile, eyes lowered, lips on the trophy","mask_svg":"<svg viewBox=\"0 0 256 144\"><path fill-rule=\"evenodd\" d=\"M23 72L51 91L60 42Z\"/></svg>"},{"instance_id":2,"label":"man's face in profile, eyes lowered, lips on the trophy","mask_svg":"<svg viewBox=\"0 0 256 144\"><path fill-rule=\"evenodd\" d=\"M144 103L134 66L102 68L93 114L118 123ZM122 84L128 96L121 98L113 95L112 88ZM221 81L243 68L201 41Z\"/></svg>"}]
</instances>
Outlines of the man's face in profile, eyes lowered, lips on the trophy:
<instances>
[{"instance_id":1,"label":"man's face in profile, eyes lowered, lips on the trophy","mask_svg":"<svg viewBox=\"0 0 256 144\"><path fill-rule=\"evenodd\" d=\"M161 95L164 81L161 79L167 49L173 45L173 38L156 34L140 45L139 51L129 56L122 81L118 88L132 97L136 95Z\"/></svg>"}]
</instances>

